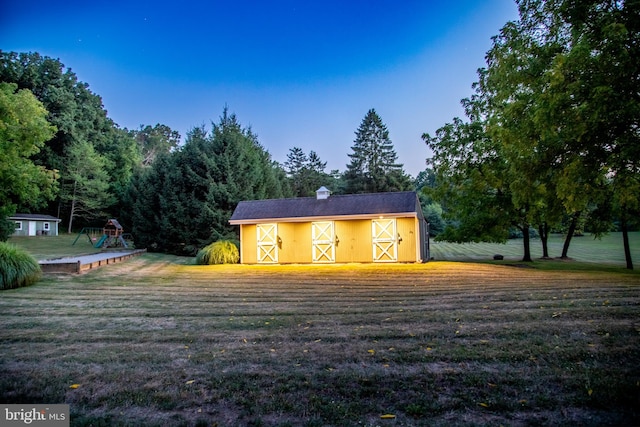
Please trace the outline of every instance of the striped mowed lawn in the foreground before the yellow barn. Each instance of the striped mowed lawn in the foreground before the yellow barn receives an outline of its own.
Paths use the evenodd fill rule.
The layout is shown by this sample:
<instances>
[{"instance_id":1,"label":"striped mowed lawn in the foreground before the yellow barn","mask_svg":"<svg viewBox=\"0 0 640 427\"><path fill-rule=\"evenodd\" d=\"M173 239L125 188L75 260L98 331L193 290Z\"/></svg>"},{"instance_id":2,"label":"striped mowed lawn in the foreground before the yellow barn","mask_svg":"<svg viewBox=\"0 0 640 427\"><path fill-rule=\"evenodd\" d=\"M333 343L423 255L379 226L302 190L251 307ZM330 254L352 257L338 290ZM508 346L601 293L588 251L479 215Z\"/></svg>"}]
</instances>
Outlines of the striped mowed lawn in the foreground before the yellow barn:
<instances>
[{"instance_id":1,"label":"striped mowed lawn in the foreground before the yellow barn","mask_svg":"<svg viewBox=\"0 0 640 427\"><path fill-rule=\"evenodd\" d=\"M74 426L640 423L637 272L186 262L0 293L0 400Z\"/></svg>"}]
</instances>

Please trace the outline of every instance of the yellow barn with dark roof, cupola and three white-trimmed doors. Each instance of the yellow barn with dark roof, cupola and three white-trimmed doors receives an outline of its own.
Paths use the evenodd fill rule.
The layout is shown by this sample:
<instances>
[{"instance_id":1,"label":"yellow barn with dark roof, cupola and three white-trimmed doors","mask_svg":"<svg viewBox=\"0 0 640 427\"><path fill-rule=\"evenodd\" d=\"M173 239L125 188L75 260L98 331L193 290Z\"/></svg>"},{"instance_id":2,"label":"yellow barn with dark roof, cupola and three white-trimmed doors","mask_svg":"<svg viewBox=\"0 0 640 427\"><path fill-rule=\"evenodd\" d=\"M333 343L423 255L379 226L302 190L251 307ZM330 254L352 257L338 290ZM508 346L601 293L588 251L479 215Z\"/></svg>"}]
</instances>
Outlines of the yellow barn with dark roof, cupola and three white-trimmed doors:
<instances>
[{"instance_id":1,"label":"yellow barn with dark roof, cupola and three white-trimmed doors","mask_svg":"<svg viewBox=\"0 0 640 427\"><path fill-rule=\"evenodd\" d=\"M413 191L242 201L243 264L425 262L429 230Z\"/></svg>"}]
</instances>

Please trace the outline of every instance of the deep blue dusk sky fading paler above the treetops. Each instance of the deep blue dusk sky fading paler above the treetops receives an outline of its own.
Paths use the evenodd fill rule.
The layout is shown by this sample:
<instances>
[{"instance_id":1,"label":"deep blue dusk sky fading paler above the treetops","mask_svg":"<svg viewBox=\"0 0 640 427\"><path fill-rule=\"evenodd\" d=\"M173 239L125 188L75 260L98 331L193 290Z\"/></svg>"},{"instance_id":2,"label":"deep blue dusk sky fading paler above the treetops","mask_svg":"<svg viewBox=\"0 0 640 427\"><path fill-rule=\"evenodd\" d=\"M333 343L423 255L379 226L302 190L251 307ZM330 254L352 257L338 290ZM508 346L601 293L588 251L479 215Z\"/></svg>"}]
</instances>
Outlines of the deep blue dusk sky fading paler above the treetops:
<instances>
[{"instance_id":1,"label":"deep blue dusk sky fading paler above the treetops","mask_svg":"<svg viewBox=\"0 0 640 427\"><path fill-rule=\"evenodd\" d=\"M345 170L375 108L415 176L424 132L461 116L513 0L18 1L0 5L0 49L59 58L121 127L183 136L225 105L274 160L316 151Z\"/></svg>"}]
</instances>

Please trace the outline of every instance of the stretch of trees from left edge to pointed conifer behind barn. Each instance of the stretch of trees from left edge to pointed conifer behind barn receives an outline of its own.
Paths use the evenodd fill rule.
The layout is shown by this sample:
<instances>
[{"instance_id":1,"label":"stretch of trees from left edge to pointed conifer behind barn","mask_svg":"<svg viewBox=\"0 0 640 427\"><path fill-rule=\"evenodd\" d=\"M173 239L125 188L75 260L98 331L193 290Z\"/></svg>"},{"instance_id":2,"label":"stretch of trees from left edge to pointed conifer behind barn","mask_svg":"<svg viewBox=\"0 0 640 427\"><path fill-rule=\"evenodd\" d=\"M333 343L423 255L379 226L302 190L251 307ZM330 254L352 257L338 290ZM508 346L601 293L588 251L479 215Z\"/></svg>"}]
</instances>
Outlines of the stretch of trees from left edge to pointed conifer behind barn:
<instances>
[{"instance_id":1,"label":"stretch of trees from left edge to pointed conifer behind barn","mask_svg":"<svg viewBox=\"0 0 640 427\"><path fill-rule=\"evenodd\" d=\"M88 84L38 53L0 52L0 124L3 240L17 211L64 218L69 233L117 217L140 246L191 255L237 240L228 219L241 200L312 196L322 185L337 194L413 188L373 109L346 172L327 173L299 147L275 162L227 107L184 143L162 124L120 128Z\"/></svg>"}]
</instances>

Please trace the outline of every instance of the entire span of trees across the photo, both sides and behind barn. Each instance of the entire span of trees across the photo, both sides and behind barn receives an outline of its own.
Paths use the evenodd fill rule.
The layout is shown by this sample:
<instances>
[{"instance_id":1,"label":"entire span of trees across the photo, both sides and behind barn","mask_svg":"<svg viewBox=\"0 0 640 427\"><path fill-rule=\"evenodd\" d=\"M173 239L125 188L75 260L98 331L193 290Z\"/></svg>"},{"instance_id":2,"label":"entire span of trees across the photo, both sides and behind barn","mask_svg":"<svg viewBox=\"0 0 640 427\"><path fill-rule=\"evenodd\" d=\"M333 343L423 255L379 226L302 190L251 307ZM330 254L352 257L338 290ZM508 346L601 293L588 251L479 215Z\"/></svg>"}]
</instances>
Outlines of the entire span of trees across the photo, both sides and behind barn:
<instances>
[{"instance_id":1,"label":"entire span of trees across the photo, both sides and behind barn","mask_svg":"<svg viewBox=\"0 0 640 427\"><path fill-rule=\"evenodd\" d=\"M640 2L518 0L493 38L473 93L423 139L415 179L398 163L374 109L344 172L314 151L274 161L225 107L211 129L120 128L59 60L0 52L0 237L16 210L63 217L68 231L116 216L150 249L193 254L219 239L240 200L417 190L432 235L455 242L530 236L543 255L562 232L628 231L640 218ZM28 120L27 120L28 119ZM2 231L4 230L4 231Z\"/></svg>"}]
</instances>

